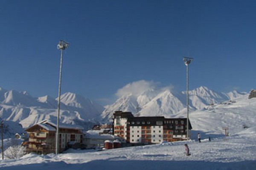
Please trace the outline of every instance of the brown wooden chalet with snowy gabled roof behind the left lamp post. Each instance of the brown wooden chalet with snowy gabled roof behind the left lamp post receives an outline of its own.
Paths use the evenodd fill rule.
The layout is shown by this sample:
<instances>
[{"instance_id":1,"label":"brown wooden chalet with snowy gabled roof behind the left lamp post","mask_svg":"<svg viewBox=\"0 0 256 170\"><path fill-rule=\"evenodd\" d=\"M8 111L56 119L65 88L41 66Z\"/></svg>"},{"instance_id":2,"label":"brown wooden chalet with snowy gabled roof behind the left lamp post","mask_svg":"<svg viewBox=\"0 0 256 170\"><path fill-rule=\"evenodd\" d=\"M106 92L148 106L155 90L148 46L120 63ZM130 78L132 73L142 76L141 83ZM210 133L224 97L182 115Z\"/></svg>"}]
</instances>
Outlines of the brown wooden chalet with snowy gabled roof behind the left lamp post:
<instances>
[{"instance_id":1,"label":"brown wooden chalet with snowy gabled roof behind the left lamp post","mask_svg":"<svg viewBox=\"0 0 256 170\"><path fill-rule=\"evenodd\" d=\"M56 125L50 121L42 121L26 129L29 134L27 153L55 153ZM59 124L59 148L61 153L68 147L68 142L82 143L83 127L78 125Z\"/></svg>"}]
</instances>

